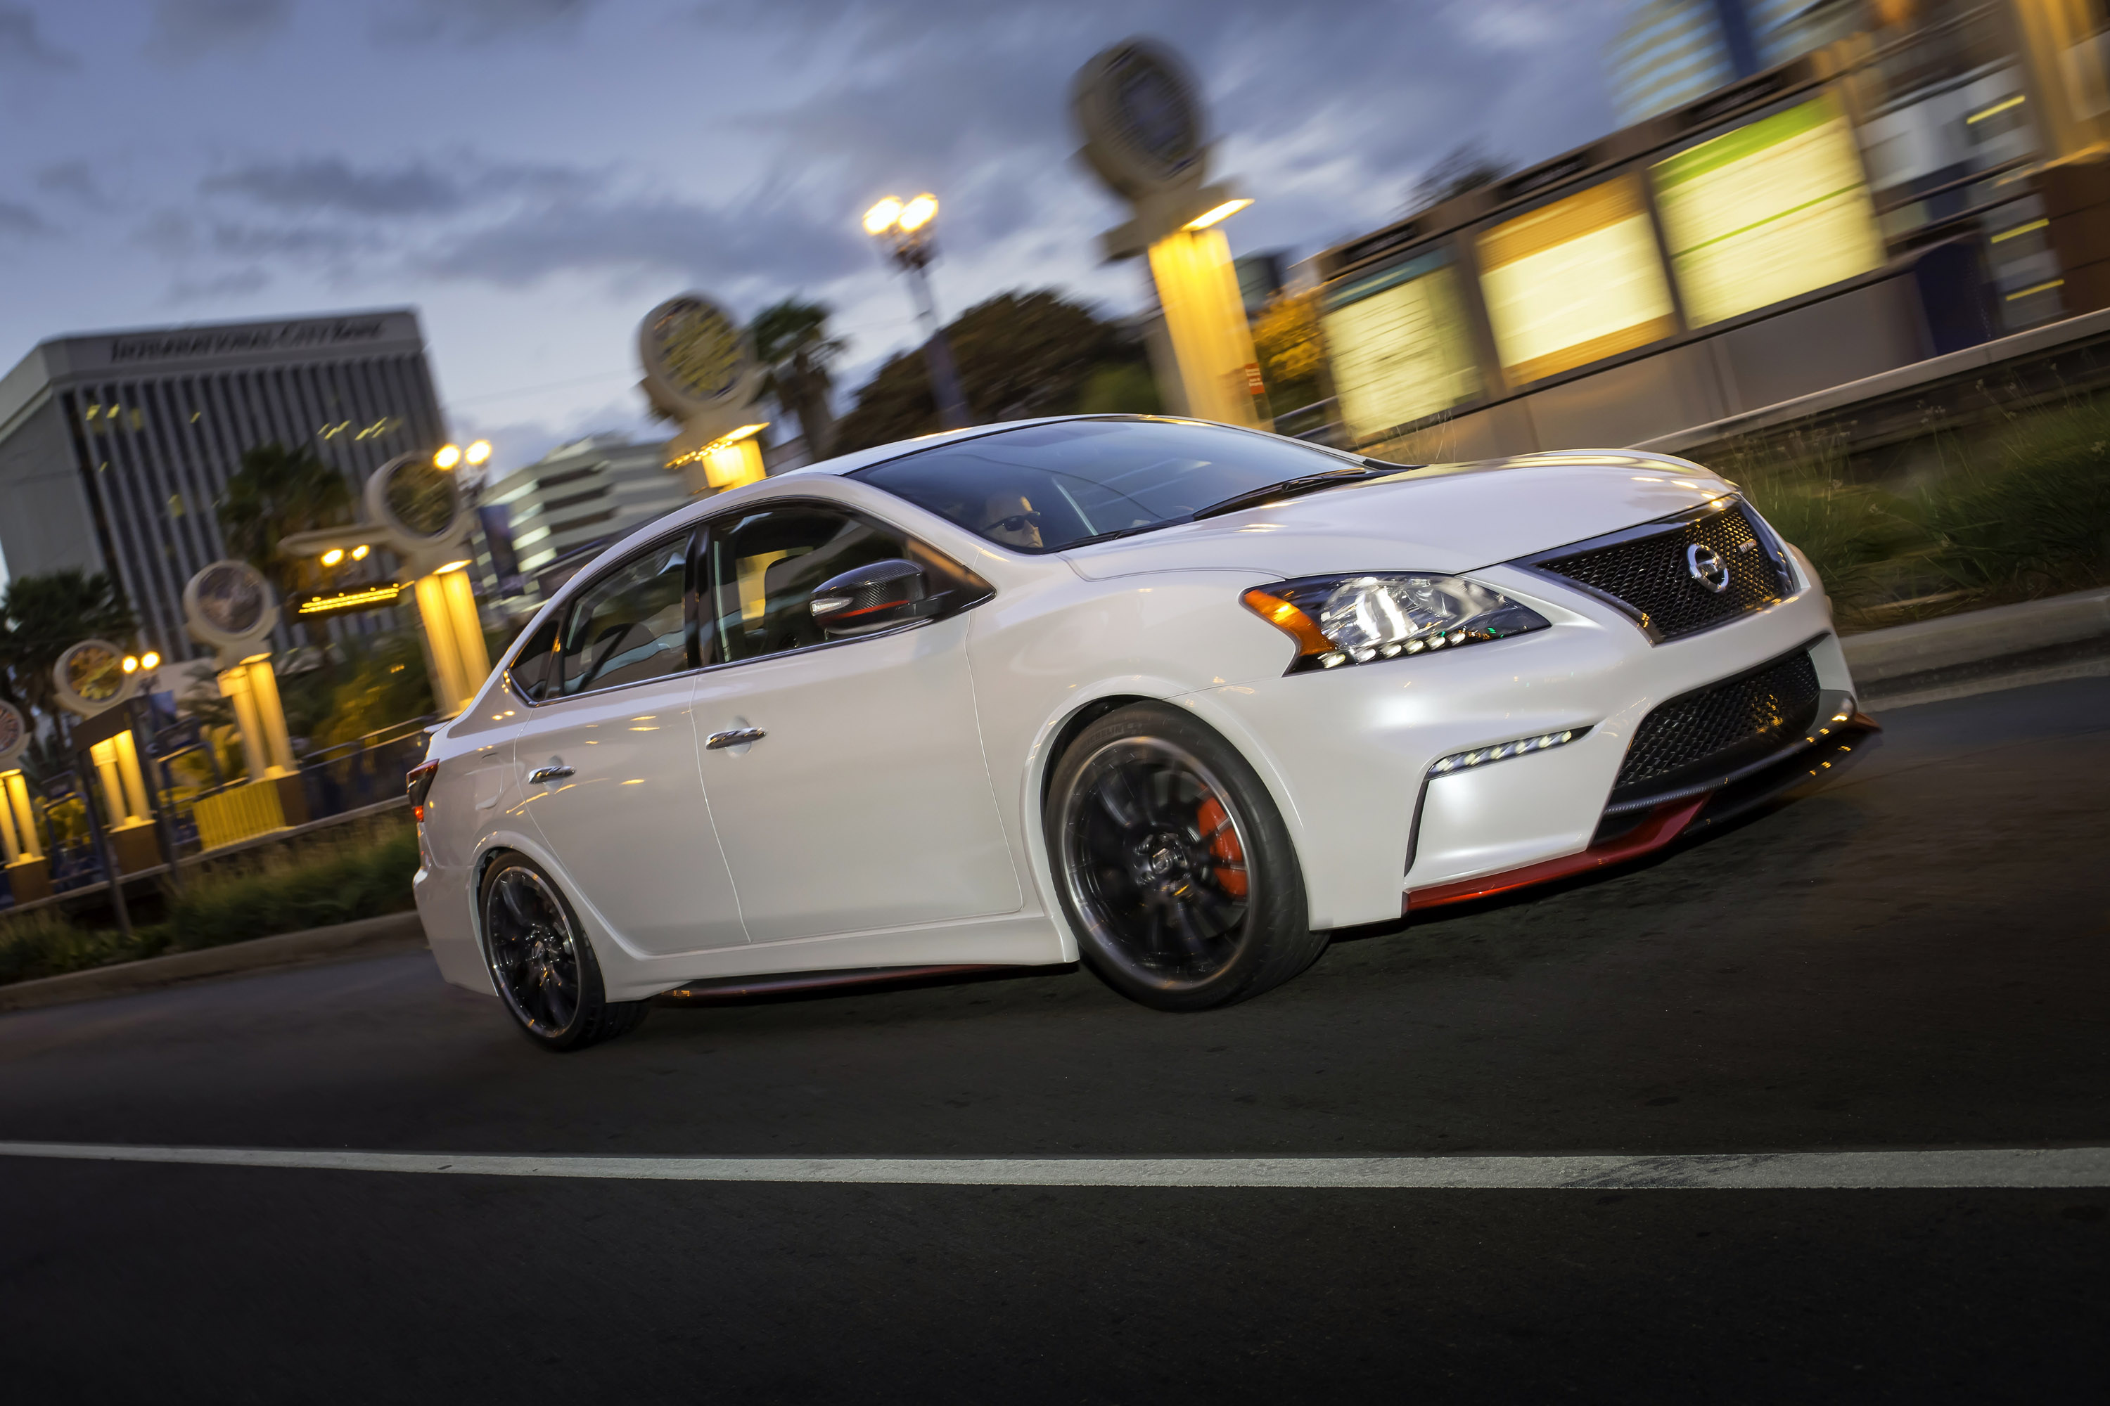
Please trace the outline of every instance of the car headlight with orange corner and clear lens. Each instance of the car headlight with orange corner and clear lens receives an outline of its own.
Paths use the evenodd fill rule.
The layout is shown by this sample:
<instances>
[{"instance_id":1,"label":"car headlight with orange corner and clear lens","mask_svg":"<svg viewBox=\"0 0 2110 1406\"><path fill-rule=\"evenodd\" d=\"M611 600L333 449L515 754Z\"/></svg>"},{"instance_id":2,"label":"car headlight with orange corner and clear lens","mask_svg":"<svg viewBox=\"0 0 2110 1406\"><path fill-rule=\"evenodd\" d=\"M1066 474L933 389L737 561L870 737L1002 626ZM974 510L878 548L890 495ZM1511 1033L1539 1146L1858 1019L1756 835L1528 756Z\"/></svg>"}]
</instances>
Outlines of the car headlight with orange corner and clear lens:
<instances>
[{"instance_id":1,"label":"car headlight with orange corner and clear lens","mask_svg":"<svg viewBox=\"0 0 2110 1406\"><path fill-rule=\"evenodd\" d=\"M1509 639L1551 624L1462 575L1308 575L1247 590L1245 607L1298 641L1289 672Z\"/></svg>"}]
</instances>

